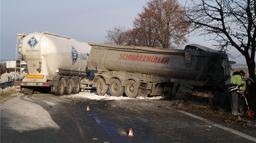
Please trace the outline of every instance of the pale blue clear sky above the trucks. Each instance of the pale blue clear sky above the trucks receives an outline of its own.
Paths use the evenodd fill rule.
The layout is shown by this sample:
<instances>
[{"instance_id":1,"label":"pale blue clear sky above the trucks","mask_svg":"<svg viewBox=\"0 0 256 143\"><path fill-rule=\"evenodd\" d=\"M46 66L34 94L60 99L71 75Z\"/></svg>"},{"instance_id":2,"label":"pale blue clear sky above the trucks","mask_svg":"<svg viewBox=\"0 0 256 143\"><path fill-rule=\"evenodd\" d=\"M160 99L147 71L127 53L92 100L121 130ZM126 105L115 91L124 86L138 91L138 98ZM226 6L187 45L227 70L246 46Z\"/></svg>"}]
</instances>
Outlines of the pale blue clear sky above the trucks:
<instances>
[{"instance_id":1,"label":"pale blue clear sky above the trucks","mask_svg":"<svg viewBox=\"0 0 256 143\"><path fill-rule=\"evenodd\" d=\"M14 60L17 33L50 32L82 42L103 43L106 30L132 28L148 0L1 0L0 59ZM187 44L209 48L213 42L189 37ZM236 56L240 55L234 50ZM243 57L236 63L245 64Z\"/></svg>"}]
</instances>

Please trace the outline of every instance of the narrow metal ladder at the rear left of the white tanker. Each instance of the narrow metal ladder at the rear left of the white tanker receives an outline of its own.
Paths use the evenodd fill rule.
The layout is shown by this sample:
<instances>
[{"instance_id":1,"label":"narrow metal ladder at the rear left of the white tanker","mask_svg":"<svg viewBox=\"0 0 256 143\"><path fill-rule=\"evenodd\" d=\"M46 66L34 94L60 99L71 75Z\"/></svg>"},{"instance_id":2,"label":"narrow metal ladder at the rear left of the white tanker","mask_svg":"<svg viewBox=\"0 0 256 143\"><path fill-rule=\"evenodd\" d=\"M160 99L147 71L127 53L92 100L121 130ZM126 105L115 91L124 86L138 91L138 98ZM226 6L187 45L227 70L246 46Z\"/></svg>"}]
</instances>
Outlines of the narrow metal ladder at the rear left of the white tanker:
<instances>
[{"instance_id":1,"label":"narrow metal ladder at the rear left of the white tanker","mask_svg":"<svg viewBox=\"0 0 256 143\"><path fill-rule=\"evenodd\" d=\"M16 54L15 54L15 72L21 72L21 63L22 63L22 40L23 37L26 36L27 33L17 34L17 42L16 42ZM20 52L19 52L20 49Z\"/></svg>"}]
</instances>

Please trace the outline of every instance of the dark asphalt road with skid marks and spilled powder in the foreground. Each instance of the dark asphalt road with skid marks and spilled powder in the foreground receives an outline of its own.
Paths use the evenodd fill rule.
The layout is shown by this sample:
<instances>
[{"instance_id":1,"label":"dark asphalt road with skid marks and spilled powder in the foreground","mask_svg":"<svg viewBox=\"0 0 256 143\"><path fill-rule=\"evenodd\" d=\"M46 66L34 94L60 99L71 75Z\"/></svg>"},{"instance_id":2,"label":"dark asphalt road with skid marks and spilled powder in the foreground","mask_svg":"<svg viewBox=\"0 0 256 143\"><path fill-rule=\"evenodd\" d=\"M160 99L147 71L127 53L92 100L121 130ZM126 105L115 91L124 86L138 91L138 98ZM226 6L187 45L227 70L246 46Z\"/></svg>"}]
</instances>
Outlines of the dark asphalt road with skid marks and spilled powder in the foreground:
<instances>
[{"instance_id":1,"label":"dark asphalt road with skid marks and spilled powder in the foreground","mask_svg":"<svg viewBox=\"0 0 256 143\"><path fill-rule=\"evenodd\" d=\"M174 101L19 95L1 104L1 143L252 143L253 132L172 109ZM87 111L89 105L90 111ZM129 129L132 135L128 137Z\"/></svg>"}]
</instances>

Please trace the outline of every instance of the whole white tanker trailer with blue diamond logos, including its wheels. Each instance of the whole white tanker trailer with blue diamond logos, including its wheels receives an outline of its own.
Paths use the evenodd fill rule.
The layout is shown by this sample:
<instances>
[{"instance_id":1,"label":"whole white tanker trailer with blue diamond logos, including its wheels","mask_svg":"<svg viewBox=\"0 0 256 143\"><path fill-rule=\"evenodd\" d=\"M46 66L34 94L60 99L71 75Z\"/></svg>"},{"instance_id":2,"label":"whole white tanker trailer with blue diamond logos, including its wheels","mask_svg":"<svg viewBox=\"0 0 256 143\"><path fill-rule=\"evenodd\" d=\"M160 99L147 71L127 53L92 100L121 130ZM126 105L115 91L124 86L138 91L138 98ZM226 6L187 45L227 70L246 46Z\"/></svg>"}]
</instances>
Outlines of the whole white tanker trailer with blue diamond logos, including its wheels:
<instances>
[{"instance_id":1,"label":"whole white tanker trailer with blue diamond logos, including its wheels","mask_svg":"<svg viewBox=\"0 0 256 143\"><path fill-rule=\"evenodd\" d=\"M28 74L14 85L20 85L25 95L49 91L70 95L79 93L81 88L90 89L90 50L86 42L48 32L24 35L19 53L27 63Z\"/></svg>"}]
</instances>

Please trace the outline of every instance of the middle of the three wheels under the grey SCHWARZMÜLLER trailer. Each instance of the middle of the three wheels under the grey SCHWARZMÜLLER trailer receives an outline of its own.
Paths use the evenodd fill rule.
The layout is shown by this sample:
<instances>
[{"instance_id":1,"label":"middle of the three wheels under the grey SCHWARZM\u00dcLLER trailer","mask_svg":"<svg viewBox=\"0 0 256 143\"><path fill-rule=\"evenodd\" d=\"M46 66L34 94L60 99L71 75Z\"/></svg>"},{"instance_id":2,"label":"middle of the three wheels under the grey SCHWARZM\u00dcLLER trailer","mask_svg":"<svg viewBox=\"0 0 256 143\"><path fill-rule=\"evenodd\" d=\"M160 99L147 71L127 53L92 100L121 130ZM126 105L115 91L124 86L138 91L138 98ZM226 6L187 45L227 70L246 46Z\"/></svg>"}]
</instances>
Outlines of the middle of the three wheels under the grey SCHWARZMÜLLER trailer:
<instances>
[{"instance_id":1,"label":"middle of the three wheels under the grey SCHWARZM\u00dcLLER trailer","mask_svg":"<svg viewBox=\"0 0 256 143\"><path fill-rule=\"evenodd\" d=\"M112 96L121 96L124 94L124 87L121 86L121 83L119 80L115 79L112 80L109 84L109 92Z\"/></svg>"}]
</instances>

